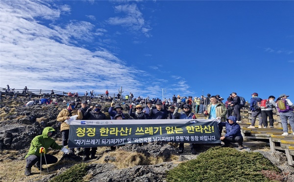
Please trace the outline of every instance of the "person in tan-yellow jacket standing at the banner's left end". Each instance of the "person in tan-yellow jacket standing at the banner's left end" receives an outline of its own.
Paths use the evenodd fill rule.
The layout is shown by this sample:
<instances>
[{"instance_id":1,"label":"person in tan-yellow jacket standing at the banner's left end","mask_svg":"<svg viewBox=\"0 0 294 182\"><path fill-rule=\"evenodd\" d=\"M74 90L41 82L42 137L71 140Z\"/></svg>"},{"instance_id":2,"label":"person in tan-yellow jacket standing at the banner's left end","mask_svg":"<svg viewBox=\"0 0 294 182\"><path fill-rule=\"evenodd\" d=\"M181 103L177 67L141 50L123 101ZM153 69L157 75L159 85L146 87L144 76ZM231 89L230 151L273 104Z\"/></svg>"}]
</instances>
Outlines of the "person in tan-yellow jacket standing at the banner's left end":
<instances>
[{"instance_id":1,"label":"person in tan-yellow jacket standing at the banner's left end","mask_svg":"<svg viewBox=\"0 0 294 182\"><path fill-rule=\"evenodd\" d=\"M68 145L69 135L70 135L70 125L67 124L65 121L69 120L71 116L77 115L77 120L83 119L83 113L81 110L76 110L74 108L75 103L74 101L69 101L67 104L66 109L62 109L58 116L57 121L61 122L60 131L62 133L62 145ZM68 157L68 154L63 154L63 157ZM74 148L70 148L70 157L75 158Z\"/></svg>"}]
</instances>

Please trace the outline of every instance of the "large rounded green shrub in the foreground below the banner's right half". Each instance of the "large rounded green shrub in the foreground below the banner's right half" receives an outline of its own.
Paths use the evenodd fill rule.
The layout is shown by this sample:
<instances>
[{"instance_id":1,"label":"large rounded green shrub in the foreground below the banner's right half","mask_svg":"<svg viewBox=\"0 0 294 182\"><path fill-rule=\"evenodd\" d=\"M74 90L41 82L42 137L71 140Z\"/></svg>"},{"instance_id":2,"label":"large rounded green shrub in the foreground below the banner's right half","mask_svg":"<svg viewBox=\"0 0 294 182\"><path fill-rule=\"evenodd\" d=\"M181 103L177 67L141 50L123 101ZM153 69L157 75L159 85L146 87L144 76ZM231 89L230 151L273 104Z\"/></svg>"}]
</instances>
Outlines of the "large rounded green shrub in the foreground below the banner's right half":
<instances>
[{"instance_id":1,"label":"large rounded green shrub in the foreground below the banner's right half","mask_svg":"<svg viewBox=\"0 0 294 182\"><path fill-rule=\"evenodd\" d=\"M180 163L168 172L168 182L270 182L262 174L279 169L258 152L233 148L210 148L196 159Z\"/></svg>"}]
</instances>

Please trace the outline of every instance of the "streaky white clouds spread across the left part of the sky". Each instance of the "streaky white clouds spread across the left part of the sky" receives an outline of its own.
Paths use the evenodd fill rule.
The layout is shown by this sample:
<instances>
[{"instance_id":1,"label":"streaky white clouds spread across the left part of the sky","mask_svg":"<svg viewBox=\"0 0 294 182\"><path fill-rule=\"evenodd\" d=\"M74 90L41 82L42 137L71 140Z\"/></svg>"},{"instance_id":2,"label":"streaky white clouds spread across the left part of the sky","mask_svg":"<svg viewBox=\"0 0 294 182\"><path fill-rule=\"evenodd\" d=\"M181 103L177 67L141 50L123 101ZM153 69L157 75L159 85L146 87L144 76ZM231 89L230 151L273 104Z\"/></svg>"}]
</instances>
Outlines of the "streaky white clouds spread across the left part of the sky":
<instances>
[{"instance_id":1,"label":"streaky white clouds spread across the left part of the sky","mask_svg":"<svg viewBox=\"0 0 294 182\"><path fill-rule=\"evenodd\" d=\"M175 93L179 93L188 88L158 80L152 72L134 69L105 46L96 44L91 47L95 51L83 48L87 46L80 42L93 43L98 36L102 43L115 40L108 36L104 39L107 30L90 22L61 21L60 16L71 14L71 7L47 2L1 0L0 86L9 84L11 88L22 89L26 85L29 89L79 93L92 89L96 93L104 93L105 89L117 93L123 86L123 94L137 93L137 97L140 93L151 98L160 95L163 83L172 87L165 88L168 92L177 89ZM120 11L139 17L137 24L145 26L136 6L122 6ZM48 25L41 24L42 20L49 21ZM158 67L162 65L152 68Z\"/></svg>"}]
</instances>

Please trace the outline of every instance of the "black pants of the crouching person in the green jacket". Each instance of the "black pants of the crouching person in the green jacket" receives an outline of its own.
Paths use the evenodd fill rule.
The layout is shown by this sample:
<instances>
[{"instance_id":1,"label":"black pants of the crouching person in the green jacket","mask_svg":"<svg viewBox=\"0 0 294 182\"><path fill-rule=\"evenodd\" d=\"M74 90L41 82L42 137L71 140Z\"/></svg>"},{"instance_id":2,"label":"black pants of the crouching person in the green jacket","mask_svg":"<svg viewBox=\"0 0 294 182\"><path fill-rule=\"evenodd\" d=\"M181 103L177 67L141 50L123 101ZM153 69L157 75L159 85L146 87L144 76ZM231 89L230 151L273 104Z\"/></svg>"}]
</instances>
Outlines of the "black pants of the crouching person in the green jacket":
<instances>
[{"instance_id":1,"label":"black pants of the crouching person in the green jacket","mask_svg":"<svg viewBox=\"0 0 294 182\"><path fill-rule=\"evenodd\" d=\"M46 157L46 161L45 161ZM51 163L56 163L58 159L50 154L42 154L42 165L43 164L51 164ZM25 167L32 167L35 163L41 162L41 157L35 156L35 155L30 155L27 158L25 158L26 161L26 166Z\"/></svg>"}]
</instances>

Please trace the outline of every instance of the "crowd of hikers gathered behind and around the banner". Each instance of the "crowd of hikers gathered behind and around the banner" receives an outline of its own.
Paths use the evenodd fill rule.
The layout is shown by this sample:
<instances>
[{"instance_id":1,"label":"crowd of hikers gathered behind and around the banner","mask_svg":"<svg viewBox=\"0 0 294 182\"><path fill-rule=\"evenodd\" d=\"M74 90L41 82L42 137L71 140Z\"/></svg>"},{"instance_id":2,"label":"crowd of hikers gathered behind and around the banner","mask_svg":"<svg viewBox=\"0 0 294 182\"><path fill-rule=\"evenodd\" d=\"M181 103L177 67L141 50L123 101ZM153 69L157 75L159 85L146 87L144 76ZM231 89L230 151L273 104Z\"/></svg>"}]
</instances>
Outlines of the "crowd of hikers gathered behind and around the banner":
<instances>
[{"instance_id":1,"label":"crowd of hikers gathered behind and around the banner","mask_svg":"<svg viewBox=\"0 0 294 182\"><path fill-rule=\"evenodd\" d=\"M93 94L94 91L90 93ZM259 117L258 127L268 127L267 117L270 119L270 128L273 127L273 113L272 108L277 107L280 112L280 118L283 125L284 133L282 135L289 135L287 120L289 120L292 128L294 128L294 112L293 107L294 104L288 99L288 95L282 94L279 96L277 101L274 96L269 96L269 98L263 104L263 100L258 98L257 93L251 94L252 99L250 100L249 106L252 111L252 120L249 128L255 128L255 120ZM109 96L108 96L109 97ZM41 101L42 100L42 101ZM39 102L41 104L50 104L48 98L42 98ZM60 122L60 131L62 133L62 145L56 145L52 140L49 140L53 143L53 148L61 149L62 146L67 146L69 140L69 129L70 125L65 122L69 120L71 116L77 115L78 120L107 120L106 115L102 112L102 106L100 104L92 104L92 99L88 101L81 101L80 99L75 99L74 101L68 101L65 109L61 110L57 116L57 121ZM128 115L129 119L134 120L162 120L162 119L196 119L197 113L203 113L203 115L207 119L215 119L219 123L219 131L220 134L224 129L224 136L221 136L220 140L224 144L223 147L230 146L231 143L238 143L239 148L243 148L243 137L241 135L241 127L239 123L241 123L240 110L241 99L237 96L237 93L233 92L227 98L225 103L222 102L223 98L219 95L211 96L207 94L207 97L201 96L200 98L195 97L193 99L192 96L188 97L180 97L173 95L172 100L160 100L160 99L143 99L141 97L132 98L129 97L126 100L122 101L121 104L118 102L115 103L112 100L110 101L110 107L108 110L108 114L111 120L124 120L126 117L123 113L122 105L129 105ZM283 105L280 102L283 101L285 103L286 109L283 108ZM50 130L44 129L43 138L50 138L49 132ZM293 133L294 135L294 133ZM38 137L38 138L42 138ZM39 139L38 139L39 140ZM42 143L44 141L36 141L35 139L31 142L31 148L35 147L45 147L45 156L47 157L46 150L48 145L47 142ZM142 145L139 144L139 145ZM52 148L52 147L51 147ZM111 146L111 150L115 150L116 146ZM196 154L196 144L190 144L192 154ZM82 156L82 160L86 161L88 159L96 158L95 154L97 151L97 147L91 148L70 148L69 154L64 154L62 159L65 158L76 158L78 155ZM34 151L31 152L30 149L28 155L26 156L27 165L25 170L25 175L30 174L30 168L35 166L37 169L41 169L42 165L39 162L39 154ZM179 143L178 153L181 154L184 152L184 143ZM33 156L31 156L33 155ZM37 156L37 157L36 157ZM51 157L52 158L52 157ZM38 159L38 160L37 160ZM41 158L40 158L41 159ZM50 160L50 162L56 162L54 158Z\"/></svg>"}]
</instances>

